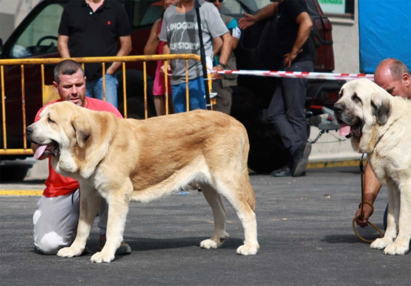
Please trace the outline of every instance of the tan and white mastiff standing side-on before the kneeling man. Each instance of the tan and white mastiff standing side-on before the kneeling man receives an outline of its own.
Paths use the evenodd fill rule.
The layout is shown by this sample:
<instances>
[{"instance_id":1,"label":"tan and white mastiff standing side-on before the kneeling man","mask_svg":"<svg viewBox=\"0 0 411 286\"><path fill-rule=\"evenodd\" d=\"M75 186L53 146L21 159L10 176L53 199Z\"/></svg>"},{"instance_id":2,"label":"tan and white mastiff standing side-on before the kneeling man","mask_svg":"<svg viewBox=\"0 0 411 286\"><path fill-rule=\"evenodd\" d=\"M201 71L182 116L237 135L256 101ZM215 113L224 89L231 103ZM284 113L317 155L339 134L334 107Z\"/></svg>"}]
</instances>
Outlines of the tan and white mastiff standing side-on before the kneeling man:
<instances>
[{"instance_id":1,"label":"tan and white mastiff standing side-on before the kneeling man","mask_svg":"<svg viewBox=\"0 0 411 286\"><path fill-rule=\"evenodd\" d=\"M101 197L109 206L107 242L92 262L110 262L123 240L129 201L147 203L198 182L214 215L214 233L202 248L219 248L227 211L235 209L245 230L240 255L255 255L255 197L249 183L245 127L221 112L196 110L147 120L119 119L70 102L49 105L27 127L29 140L47 145L56 172L80 183L77 237L60 257L81 255Z\"/></svg>"}]
</instances>

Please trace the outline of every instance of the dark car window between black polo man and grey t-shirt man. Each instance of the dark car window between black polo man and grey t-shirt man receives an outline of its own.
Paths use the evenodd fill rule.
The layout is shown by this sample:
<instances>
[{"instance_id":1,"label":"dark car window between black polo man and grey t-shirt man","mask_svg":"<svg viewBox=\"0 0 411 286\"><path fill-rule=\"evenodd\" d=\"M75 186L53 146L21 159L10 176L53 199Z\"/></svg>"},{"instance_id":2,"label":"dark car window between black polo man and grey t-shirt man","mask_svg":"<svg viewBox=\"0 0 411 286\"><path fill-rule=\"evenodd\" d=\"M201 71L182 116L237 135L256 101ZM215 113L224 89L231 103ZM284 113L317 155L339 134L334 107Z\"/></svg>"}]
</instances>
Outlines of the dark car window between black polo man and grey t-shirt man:
<instances>
[{"instance_id":1,"label":"dark car window between black polo man and grey t-shirt man","mask_svg":"<svg viewBox=\"0 0 411 286\"><path fill-rule=\"evenodd\" d=\"M162 9L162 0L134 0L133 27L153 24L161 18Z\"/></svg>"}]
</instances>

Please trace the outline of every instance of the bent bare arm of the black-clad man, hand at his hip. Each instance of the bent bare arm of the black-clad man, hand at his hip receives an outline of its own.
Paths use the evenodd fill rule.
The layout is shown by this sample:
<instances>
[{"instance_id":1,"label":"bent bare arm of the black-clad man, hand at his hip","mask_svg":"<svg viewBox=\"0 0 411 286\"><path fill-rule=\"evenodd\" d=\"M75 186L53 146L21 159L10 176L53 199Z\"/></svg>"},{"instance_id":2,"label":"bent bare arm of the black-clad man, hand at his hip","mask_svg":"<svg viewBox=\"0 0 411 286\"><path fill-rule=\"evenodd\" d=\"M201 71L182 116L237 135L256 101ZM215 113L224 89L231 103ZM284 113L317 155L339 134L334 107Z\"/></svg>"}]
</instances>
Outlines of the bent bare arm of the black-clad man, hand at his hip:
<instances>
[{"instance_id":1,"label":"bent bare arm of the black-clad man, hand at his hip","mask_svg":"<svg viewBox=\"0 0 411 286\"><path fill-rule=\"evenodd\" d=\"M291 52L284 55L285 58L283 61L284 66L288 67L291 66L292 61L295 60L295 57L297 57L301 48L307 42L312 28L312 21L307 12L299 14L295 22L299 25L297 38L295 39Z\"/></svg>"}]
</instances>

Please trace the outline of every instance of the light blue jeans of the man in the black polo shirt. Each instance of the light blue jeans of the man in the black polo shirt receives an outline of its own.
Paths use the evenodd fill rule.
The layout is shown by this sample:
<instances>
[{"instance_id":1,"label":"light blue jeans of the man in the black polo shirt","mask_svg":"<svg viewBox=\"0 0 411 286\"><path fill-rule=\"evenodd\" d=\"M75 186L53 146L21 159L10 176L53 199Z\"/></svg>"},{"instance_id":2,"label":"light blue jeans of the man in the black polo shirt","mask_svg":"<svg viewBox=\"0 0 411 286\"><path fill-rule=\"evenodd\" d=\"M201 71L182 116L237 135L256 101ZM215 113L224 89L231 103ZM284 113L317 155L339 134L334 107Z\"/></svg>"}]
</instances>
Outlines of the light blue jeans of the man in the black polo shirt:
<instances>
[{"instance_id":1,"label":"light blue jeans of the man in the black polo shirt","mask_svg":"<svg viewBox=\"0 0 411 286\"><path fill-rule=\"evenodd\" d=\"M117 81L116 74L105 74L105 101L114 105L117 108L117 88L119 81ZM95 99L103 100L103 77L86 81L86 96L94 97Z\"/></svg>"}]
</instances>

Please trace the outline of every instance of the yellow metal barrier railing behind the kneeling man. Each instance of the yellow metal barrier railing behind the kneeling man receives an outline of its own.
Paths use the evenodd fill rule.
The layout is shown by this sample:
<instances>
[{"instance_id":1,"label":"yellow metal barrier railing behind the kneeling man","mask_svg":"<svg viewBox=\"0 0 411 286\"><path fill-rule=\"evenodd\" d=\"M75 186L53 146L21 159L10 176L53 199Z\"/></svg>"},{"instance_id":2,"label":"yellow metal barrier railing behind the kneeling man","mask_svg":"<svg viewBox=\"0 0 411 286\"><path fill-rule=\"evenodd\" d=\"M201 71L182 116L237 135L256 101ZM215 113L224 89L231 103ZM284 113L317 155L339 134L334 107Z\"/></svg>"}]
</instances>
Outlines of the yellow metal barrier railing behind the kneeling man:
<instances>
[{"instance_id":1,"label":"yellow metal barrier railing behind the kneeling man","mask_svg":"<svg viewBox=\"0 0 411 286\"><path fill-rule=\"evenodd\" d=\"M143 64L143 75L144 75L144 105L145 105L145 118L148 117L148 106L147 106L147 62L148 61L164 61L165 70L167 70L167 65L169 60L186 60L186 104L187 111L189 110L189 94L188 94L188 60L201 61L199 55L194 54L180 54L180 55L130 55L125 57L71 57L71 58L38 58L38 59L13 59L13 60L0 60L0 77L1 77L1 112L2 112L2 122L3 122L3 148L0 149L0 155L33 155L31 148L27 148L27 138L26 138L26 116L25 116L25 77L24 77L24 66L25 65L40 65L41 69L41 87L42 87L42 105L47 103L49 99L49 89L45 85L45 64L58 64L62 60L74 60L82 64L84 69L84 64L91 63L101 63L103 70L103 99L105 101L105 62L122 62L122 72L123 72L123 100L124 100L124 117L127 118L127 88L126 88L126 62L142 62ZM8 149L7 148L7 129L5 126L5 86L4 86L4 68L3 66L20 65L21 66L21 104L23 112L23 149ZM166 82L166 114L169 114L169 88L167 74L164 75ZM208 88L211 92L211 77L208 75Z\"/></svg>"}]
</instances>

